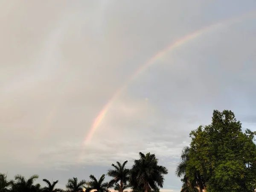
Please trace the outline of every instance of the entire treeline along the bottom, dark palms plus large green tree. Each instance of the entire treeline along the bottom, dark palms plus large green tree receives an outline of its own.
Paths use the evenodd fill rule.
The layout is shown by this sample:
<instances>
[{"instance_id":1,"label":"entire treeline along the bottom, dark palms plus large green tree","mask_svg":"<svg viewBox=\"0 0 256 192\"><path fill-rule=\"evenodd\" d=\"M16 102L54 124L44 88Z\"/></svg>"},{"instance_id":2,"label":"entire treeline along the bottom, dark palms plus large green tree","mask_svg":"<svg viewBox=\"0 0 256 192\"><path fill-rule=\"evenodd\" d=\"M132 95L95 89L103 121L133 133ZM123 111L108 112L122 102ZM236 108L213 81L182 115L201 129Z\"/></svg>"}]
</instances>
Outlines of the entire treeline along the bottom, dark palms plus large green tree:
<instances>
[{"instance_id":1,"label":"entire treeline along the bottom, dark palms plus large green tree","mask_svg":"<svg viewBox=\"0 0 256 192\"><path fill-rule=\"evenodd\" d=\"M241 122L232 111L213 111L212 122L191 131L191 143L183 148L181 161L175 174L183 183L181 192L254 192L256 189L256 131L242 131ZM159 192L168 170L158 165L154 154L139 153L131 169L124 163L112 164L106 175L112 177L105 182L103 174L99 180L90 175L90 180L67 181L66 189L55 188L58 180L46 186L35 183L38 175L25 178L15 175L8 180L0 174L0 192Z\"/></svg>"}]
</instances>

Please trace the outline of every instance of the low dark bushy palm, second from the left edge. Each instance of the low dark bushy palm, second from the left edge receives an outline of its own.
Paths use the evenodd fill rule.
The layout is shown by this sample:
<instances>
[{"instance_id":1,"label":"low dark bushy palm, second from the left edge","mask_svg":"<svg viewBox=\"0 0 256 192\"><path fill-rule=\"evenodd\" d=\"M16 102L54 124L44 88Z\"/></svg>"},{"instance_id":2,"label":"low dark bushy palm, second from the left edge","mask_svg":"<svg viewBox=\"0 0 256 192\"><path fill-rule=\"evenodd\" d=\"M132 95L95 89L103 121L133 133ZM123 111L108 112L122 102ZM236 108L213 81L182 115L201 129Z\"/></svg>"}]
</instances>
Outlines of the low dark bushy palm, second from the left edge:
<instances>
[{"instance_id":1,"label":"low dark bushy palm, second from the left edge","mask_svg":"<svg viewBox=\"0 0 256 192\"><path fill-rule=\"evenodd\" d=\"M14 192L40 192L41 186L39 183L34 185L34 181L38 179L38 175L32 175L26 179L22 175L15 175L15 183L12 186Z\"/></svg>"}]
</instances>

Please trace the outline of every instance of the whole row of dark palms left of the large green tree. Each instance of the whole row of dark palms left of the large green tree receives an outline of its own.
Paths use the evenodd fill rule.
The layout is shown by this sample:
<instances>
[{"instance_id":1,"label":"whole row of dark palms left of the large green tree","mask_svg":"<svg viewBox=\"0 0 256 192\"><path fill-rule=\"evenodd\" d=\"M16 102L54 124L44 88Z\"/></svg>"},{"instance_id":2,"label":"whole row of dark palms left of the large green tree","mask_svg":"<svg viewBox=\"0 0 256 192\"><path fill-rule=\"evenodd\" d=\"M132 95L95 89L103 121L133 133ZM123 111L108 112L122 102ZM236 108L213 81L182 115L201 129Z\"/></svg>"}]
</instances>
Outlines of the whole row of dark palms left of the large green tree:
<instances>
[{"instance_id":1,"label":"whole row of dark palms left of the large green tree","mask_svg":"<svg viewBox=\"0 0 256 192\"><path fill-rule=\"evenodd\" d=\"M66 189L58 189L58 180L50 182L43 179L46 186L42 187L35 183L38 175L32 175L27 179L22 175L15 175L13 180L8 180L6 174L0 174L0 192L109 192L110 188L118 192L125 192L127 189L133 192L159 192L168 170L158 165L158 159L154 154L140 152L139 156L138 160L134 160L131 169L125 167L128 161L112 164L112 169L107 172L107 175L112 177L109 182L105 182L105 174L99 180L90 175L89 181L73 177L67 181Z\"/></svg>"}]
</instances>

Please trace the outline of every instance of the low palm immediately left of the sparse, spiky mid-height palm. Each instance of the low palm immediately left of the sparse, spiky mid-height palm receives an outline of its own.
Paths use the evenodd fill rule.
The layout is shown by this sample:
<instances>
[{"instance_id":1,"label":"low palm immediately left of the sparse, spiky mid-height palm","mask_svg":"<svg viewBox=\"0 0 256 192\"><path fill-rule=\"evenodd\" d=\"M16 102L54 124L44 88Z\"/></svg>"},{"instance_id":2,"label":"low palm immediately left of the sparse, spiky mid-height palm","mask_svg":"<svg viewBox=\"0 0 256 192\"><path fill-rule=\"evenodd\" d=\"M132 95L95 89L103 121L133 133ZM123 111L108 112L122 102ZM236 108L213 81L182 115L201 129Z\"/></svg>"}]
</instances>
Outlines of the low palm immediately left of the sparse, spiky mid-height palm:
<instances>
[{"instance_id":1,"label":"low palm immediately left of the sparse, spiky mid-height palm","mask_svg":"<svg viewBox=\"0 0 256 192\"><path fill-rule=\"evenodd\" d=\"M90 192L91 190L95 190L97 192L109 192L108 190L108 182L103 183L105 179L105 174L103 174L99 180L97 180L94 175L90 175L90 181L87 182L86 192Z\"/></svg>"}]
</instances>

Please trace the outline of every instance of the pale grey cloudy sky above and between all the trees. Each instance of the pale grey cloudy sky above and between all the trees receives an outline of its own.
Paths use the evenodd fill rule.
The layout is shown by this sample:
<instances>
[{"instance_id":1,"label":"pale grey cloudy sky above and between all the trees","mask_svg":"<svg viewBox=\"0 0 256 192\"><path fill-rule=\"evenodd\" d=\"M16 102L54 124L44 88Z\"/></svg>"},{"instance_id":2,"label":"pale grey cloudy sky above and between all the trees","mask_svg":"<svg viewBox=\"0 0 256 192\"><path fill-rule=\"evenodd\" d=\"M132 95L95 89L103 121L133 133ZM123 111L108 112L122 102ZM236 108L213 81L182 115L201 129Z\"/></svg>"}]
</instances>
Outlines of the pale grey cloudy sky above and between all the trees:
<instances>
[{"instance_id":1,"label":"pale grey cloudy sky above and between all the trees","mask_svg":"<svg viewBox=\"0 0 256 192\"><path fill-rule=\"evenodd\" d=\"M169 169L161 191L178 192L180 152L214 109L256 131L255 0L0 1L0 24L9 178L64 187L142 151Z\"/></svg>"}]
</instances>

